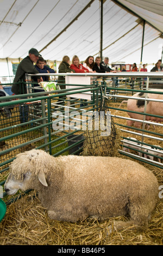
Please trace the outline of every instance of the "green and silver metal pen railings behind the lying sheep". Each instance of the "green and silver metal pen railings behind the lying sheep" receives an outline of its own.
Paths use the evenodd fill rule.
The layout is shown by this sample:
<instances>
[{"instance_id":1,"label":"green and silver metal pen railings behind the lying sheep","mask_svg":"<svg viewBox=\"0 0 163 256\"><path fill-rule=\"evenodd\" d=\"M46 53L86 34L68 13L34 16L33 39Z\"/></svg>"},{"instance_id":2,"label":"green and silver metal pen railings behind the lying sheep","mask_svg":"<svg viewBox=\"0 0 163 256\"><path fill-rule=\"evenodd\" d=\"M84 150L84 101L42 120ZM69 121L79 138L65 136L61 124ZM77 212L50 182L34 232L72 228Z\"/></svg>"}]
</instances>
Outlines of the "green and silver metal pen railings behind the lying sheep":
<instances>
[{"instance_id":1,"label":"green and silver metal pen railings behind the lying sheep","mask_svg":"<svg viewBox=\"0 0 163 256\"><path fill-rule=\"evenodd\" d=\"M136 73L136 74L135 74ZM157 72L158 73L158 72ZM161 73L161 72L160 72ZM68 118L70 120L76 121L76 127L81 124L83 121L80 118L80 114L82 112L91 113L98 109L99 102L102 100L102 97L106 99L107 105L109 109L111 109L111 117L114 118L115 123L119 127L120 131L122 132L122 140L123 143L124 139L127 138L127 134L129 136L133 137L140 137L140 147L139 149L134 149L134 141L132 139L129 141L129 147L128 149L131 150L131 152L123 151L123 145L122 149L119 150L119 152L125 156L131 157L135 160L140 160L145 163L152 164L156 167L163 168L162 156L159 156L158 159L160 159L160 162L151 159L146 159L143 157L143 150L146 146L153 146L155 141L159 142L158 149L162 149L162 124L157 123L156 121L150 121L146 120L146 118L143 119L131 119L127 112L134 113L134 114L141 114L143 117L146 117L148 115L149 117L155 117L155 118L163 118L162 115L156 115L156 114L147 114L146 109L144 112L139 111L129 111L127 107L124 108L118 108L120 105L120 102L122 100L127 99L139 99L139 97L132 97L133 94L143 92L145 93L145 97L141 98L145 102L151 100L152 102L160 102L162 104L162 99L151 99L150 97L147 98L147 93L150 95L151 93L158 93L155 92L153 89L149 90L149 84L151 81L156 81L159 84L163 84L162 81L162 74L153 74L148 72L120 72L120 73L112 73L112 74L91 74L92 77L96 77L97 80L92 82L90 85L83 85L83 84L71 84L73 88L69 89L62 89L62 90L55 90L52 92L45 92L42 89L42 92L39 93L29 93L29 94L22 94L22 95L12 95L12 96L5 96L1 97L0 102L0 111L2 111L1 114L1 126L0 126L0 157L1 157L1 163L0 163L0 175L1 175L1 182L0 185L3 185L5 182L5 176L9 169L9 164L11 161L13 161L16 157L17 153L20 153L21 151L28 150L28 148L37 148L37 149L45 149L46 151L49 151L49 153L53 156L58 156L60 154L68 154L68 151L75 147L76 145L83 142L83 139L80 139L80 141L74 143L73 145L67 145L68 142L71 141L71 139L67 139L70 135L83 135L82 130L73 130L75 127L73 126L73 123L68 123ZM41 74L39 74L41 75ZM43 74L45 75L45 74ZM48 76L52 76L52 74L47 74ZM88 74L55 74L55 81L57 81L58 76L88 76ZM32 77L34 75L28 75L28 82L27 87L30 87L30 90L32 90L32 82L29 80L32 80ZM99 77L100 76L100 79ZM54 74L53 74L54 77ZM126 80L121 81L122 79L127 78ZM115 83L115 78L118 78L118 83ZM135 84L135 87L130 86L131 78L141 78L139 81L139 84ZM147 78L147 80L144 80L144 78ZM152 80L151 80L152 79ZM109 81L109 84L108 84ZM136 80L135 80L136 81ZM135 82L134 81L134 82ZM146 83L146 84L144 84ZM101 88L107 88L106 94L101 93ZM162 86L163 88L163 86ZM53 95L50 95L52 94ZM70 95L77 93L89 93L91 94L91 100L84 102L84 106L80 106L80 103L82 101L80 99L76 99L75 97L71 99ZM160 95L163 94L163 90L159 92ZM58 104L58 97L66 97L66 100L62 102L62 104ZM70 97L70 99L68 99ZM108 100L109 99L109 100ZM121 100L121 101L120 101ZM69 103L68 103L69 102ZM14 106L14 107L13 107ZM11 107L13 109L11 109ZM26 117L24 119L24 122L21 123L20 121L20 113L22 109L25 109L28 113L28 120L26 120ZM27 109L26 109L27 107ZM5 108L11 109L9 113L3 112ZM60 111L60 118L54 117L54 112ZM74 117L73 112L77 111L78 114L76 117ZM120 111L121 114L115 113L116 111ZM10 117L11 113L11 117ZM128 126L126 123L126 120L134 120L139 121L142 123L142 128L137 128L133 126ZM2 121L4 122L4 125L2 125ZM87 121L87 120L86 120ZM56 124L63 124L63 130L53 130L52 125ZM145 125L155 125L160 130L146 130ZM85 124L86 125L86 124ZM151 140L151 143L149 143L147 140ZM17 142L16 142L17 140ZM6 143L7 145L3 145L3 143ZM1 146L2 145L2 146ZM74 151L74 154L79 153L82 148ZM153 153L155 153L157 149L153 150ZM137 153L140 153L141 155L137 155ZM155 157L155 154L148 154L149 156ZM3 178L3 174L4 178Z\"/></svg>"}]
</instances>

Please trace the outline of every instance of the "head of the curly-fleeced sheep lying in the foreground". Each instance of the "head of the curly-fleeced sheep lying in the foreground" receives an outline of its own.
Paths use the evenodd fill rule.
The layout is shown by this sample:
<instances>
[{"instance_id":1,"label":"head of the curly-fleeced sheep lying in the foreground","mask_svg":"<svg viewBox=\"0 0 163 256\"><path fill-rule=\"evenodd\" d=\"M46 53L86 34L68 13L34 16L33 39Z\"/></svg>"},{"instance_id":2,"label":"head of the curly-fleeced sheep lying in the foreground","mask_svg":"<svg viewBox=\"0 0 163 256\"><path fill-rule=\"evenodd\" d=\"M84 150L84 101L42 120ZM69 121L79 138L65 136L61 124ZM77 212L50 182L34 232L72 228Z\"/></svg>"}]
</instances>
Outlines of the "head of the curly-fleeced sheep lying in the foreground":
<instances>
[{"instance_id":1,"label":"head of the curly-fleeced sheep lying in the foreground","mask_svg":"<svg viewBox=\"0 0 163 256\"><path fill-rule=\"evenodd\" d=\"M46 161L43 161L43 156L46 156ZM45 178L48 156L44 151L35 149L18 154L10 164L10 173L4 185L7 194L15 194L20 189L25 191L35 188L38 182L48 186Z\"/></svg>"}]
</instances>

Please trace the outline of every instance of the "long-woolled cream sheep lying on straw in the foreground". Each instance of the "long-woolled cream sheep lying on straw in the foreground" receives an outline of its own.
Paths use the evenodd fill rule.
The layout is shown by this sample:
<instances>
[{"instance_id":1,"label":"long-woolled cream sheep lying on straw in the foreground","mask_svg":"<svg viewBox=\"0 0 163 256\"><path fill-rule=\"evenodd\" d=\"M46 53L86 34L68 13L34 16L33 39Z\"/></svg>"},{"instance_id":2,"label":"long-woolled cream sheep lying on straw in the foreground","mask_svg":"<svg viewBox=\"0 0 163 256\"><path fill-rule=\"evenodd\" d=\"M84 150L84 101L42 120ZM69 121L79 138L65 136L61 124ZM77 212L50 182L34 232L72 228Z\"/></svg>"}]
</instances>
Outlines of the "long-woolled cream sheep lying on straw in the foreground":
<instances>
[{"instance_id":1,"label":"long-woolled cream sheep lying on straw in the foreground","mask_svg":"<svg viewBox=\"0 0 163 256\"><path fill-rule=\"evenodd\" d=\"M77 222L91 216L104 220L130 215L116 228L146 228L158 201L158 181L141 164L119 157L59 156L32 149L10 164L5 191L39 192L53 220Z\"/></svg>"}]
</instances>

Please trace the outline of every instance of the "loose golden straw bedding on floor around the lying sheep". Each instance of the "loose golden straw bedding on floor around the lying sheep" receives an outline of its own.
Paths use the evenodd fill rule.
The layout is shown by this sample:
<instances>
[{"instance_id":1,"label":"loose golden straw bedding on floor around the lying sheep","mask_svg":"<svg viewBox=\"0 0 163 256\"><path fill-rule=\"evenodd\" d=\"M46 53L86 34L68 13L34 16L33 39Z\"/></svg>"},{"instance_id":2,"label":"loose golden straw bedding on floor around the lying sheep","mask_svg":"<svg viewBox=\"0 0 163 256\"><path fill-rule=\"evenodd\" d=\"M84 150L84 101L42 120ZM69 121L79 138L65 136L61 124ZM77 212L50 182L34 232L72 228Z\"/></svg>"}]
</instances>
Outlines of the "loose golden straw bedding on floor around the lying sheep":
<instances>
[{"instance_id":1,"label":"loose golden straw bedding on floor around the lying sheep","mask_svg":"<svg viewBox=\"0 0 163 256\"><path fill-rule=\"evenodd\" d=\"M158 129L160 128L156 127L155 131L162 133ZM129 135L126 134L126 136ZM140 139L139 136L138 139ZM126 157L120 154L118 156ZM159 185L163 185L161 168L140 163L156 175ZM158 190L158 197L159 192L161 191ZM160 194L163 196L163 191ZM125 221L127 217L109 218L103 222L87 218L78 223L50 220L35 191L31 191L17 202L7 206L7 213L0 223L0 245L162 245L162 210L163 199L160 199L145 231L126 228L121 231L112 231L110 234L109 226L112 226L116 220Z\"/></svg>"}]
</instances>

